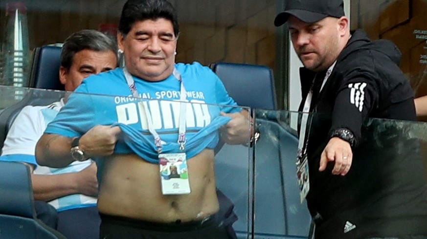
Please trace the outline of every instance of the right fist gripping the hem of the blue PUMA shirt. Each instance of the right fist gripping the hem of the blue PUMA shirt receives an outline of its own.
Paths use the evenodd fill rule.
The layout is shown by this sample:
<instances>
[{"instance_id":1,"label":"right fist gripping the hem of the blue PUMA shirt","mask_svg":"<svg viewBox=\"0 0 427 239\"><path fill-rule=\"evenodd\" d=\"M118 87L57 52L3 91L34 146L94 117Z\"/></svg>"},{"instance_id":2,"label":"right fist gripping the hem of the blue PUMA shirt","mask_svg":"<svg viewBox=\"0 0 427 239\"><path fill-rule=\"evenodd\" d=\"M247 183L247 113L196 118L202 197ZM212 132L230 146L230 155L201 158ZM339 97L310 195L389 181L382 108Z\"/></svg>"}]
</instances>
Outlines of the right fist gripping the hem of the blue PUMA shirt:
<instances>
[{"instance_id":1,"label":"right fist gripping the hem of the blue PUMA shirt","mask_svg":"<svg viewBox=\"0 0 427 239\"><path fill-rule=\"evenodd\" d=\"M231 120L221 129L221 137L228 144L247 143L250 139L250 123L247 111L238 113L224 113L222 116L230 117Z\"/></svg>"}]
</instances>

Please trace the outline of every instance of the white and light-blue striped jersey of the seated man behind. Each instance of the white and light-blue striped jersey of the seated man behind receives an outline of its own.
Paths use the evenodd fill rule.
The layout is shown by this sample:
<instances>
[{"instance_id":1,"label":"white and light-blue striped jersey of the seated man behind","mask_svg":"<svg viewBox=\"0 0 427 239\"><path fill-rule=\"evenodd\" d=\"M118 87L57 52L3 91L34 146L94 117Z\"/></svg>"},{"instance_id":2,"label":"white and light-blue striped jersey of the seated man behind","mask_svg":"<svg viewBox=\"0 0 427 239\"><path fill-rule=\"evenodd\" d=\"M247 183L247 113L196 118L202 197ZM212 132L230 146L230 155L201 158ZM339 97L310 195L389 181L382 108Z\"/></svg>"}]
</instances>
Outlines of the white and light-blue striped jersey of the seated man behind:
<instances>
[{"instance_id":1,"label":"white and light-blue striped jersey of the seated man behind","mask_svg":"<svg viewBox=\"0 0 427 239\"><path fill-rule=\"evenodd\" d=\"M91 160L75 161L64 168L50 168L37 164L34 149L37 141L42 137L46 125L55 118L64 101L57 101L47 106L25 106L14 120L7 134L0 160L20 161L33 164L34 174L57 175L65 173L75 173L88 167ZM57 211L64 211L74 208L96 206L96 198L83 194L67 195L58 199L53 199L48 203Z\"/></svg>"}]
</instances>

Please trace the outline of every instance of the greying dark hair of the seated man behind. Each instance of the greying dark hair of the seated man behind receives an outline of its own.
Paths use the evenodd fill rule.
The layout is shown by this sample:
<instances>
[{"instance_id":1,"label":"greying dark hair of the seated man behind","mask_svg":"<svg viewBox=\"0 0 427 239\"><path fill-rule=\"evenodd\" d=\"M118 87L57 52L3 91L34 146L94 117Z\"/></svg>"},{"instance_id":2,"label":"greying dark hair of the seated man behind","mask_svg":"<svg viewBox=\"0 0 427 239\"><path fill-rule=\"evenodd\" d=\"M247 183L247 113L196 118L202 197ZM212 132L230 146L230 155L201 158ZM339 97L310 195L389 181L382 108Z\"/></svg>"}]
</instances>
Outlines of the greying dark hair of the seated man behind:
<instances>
[{"instance_id":1,"label":"greying dark hair of the seated man behind","mask_svg":"<svg viewBox=\"0 0 427 239\"><path fill-rule=\"evenodd\" d=\"M65 40L61 51L61 66L69 70L74 55L83 50L98 52L112 51L117 55L117 43L97 30L81 30Z\"/></svg>"}]
</instances>

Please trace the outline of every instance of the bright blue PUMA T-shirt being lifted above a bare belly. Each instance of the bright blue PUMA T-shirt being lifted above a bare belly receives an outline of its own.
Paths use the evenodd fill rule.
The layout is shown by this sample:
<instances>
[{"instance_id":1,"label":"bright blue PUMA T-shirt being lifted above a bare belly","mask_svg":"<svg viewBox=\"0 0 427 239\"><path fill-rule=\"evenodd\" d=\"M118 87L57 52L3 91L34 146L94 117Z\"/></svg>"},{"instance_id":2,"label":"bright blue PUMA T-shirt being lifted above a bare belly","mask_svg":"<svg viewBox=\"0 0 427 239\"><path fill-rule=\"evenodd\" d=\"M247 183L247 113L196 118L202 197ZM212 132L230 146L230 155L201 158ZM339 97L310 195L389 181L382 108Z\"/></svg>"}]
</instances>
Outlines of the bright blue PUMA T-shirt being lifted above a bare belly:
<instances>
[{"instance_id":1,"label":"bright blue PUMA T-shirt being lifted above a bare belly","mask_svg":"<svg viewBox=\"0 0 427 239\"><path fill-rule=\"evenodd\" d=\"M220 116L220 112L239 112L240 108L233 107L237 103L228 96L221 80L208 67L194 62L178 63L176 68L181 74L189 101L185 153L192 158L204 148L214 148L218 143L217 129L230 119ZM90 76L70 96L45 133L77 137L95 125L119 125L124 136L116 143L114 153L136 153L142 159L157 163L154 137L148 131L144 113L144 110L148 110L164 144L162 153L180 152L177 143L180 81L173 75L156 82L136 77L134 80L141 99L133 98L121 68ZM140 101L142 103L138 103Z\"/></svg>"}]
</instances>

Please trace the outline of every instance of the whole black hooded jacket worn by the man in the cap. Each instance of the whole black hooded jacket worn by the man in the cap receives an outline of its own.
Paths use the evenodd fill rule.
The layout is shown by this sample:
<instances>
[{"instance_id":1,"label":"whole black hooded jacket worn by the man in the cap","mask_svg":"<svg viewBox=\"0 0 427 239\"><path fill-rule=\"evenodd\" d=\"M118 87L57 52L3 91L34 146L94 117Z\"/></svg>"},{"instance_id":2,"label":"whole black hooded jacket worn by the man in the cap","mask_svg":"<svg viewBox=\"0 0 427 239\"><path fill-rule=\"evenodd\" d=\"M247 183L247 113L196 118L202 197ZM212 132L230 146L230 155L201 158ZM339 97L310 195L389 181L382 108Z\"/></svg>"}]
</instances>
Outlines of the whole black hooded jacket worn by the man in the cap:
<instances>
[{"instance_id":1,"label":"whole black hooded jacket worn by the man in the cap","mask_svg":"<svg viewBox=\"0 0 427 239\"><path fill-rule=\"evenodd\" d=\"M381 120L371 121L369 126L365 121L416 119L414 94L398 66L400 58L391 41L371 41L356 30L322 91L313 92L307 203L312 216L322 218L316 221L316 239L427 235L427 186L418 144L408 143L397 133L392 139L387 130L379 133ZM301 110L315 73L301 68L300 77ZM352 167L344 177L332 175L333 163L324 172L318 171L330 133L338 128L350 129L358 143L353 148ZM391 140L378 143L375 137ZM396 145L398 142L402 145Z\"/></svg>"}]
</instances>

